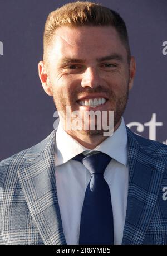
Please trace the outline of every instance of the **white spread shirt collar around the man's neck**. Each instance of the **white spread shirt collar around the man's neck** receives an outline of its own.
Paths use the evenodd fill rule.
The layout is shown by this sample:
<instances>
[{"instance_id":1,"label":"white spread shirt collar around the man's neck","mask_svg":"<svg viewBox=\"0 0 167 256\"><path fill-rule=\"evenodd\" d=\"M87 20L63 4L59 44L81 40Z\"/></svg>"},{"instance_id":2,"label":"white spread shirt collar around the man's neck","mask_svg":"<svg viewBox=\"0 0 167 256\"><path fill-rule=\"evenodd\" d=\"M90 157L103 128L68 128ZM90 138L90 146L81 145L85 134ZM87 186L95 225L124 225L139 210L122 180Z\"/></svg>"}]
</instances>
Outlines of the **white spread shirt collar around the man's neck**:
<instances>
[{"instance_id":1,"label":"white spread shirt collar around the man's neck","mask_svg":"<svg viewBox=\"0 0 167 256\"><path fill-rule=\"evenodd\" d=\"M100 151L117 162L127 166L127 132L125 127L124 118L121 119L121 124L110 137L107 137L93 150L87 149L78 143L72 136L67 134L63 127L59 124L56 132L55 143L55 165L61 165L72 159L76 155L89 153L90 151Z\"/></svg>"}]
</instances>

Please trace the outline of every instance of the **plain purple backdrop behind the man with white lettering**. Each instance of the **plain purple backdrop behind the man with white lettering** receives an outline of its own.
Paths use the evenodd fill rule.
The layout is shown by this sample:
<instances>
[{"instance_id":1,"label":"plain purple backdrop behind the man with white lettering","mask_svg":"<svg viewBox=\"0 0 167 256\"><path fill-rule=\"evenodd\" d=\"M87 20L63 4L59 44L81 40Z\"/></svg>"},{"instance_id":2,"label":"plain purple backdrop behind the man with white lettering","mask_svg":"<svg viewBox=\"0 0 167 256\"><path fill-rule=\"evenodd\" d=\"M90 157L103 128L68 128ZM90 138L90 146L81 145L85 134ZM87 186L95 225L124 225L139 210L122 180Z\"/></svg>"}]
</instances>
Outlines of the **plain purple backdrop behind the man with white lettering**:
<instances>
[{"instance_id":1,"label":"plain purple backdrop behind the man with white lettering","mask_svg":"<svg viewBox=\"0 0 167 256\"><path fill-rule=\"evenodd\" d=\"M0 160L35 145L53 130L55 106L42 89L37 65L46 17L67 2L73 1L0 0ZM101 3L124 18L136 57L125 123L138 134L167 144L167 1Z\"/></svg>"}]
</instances>

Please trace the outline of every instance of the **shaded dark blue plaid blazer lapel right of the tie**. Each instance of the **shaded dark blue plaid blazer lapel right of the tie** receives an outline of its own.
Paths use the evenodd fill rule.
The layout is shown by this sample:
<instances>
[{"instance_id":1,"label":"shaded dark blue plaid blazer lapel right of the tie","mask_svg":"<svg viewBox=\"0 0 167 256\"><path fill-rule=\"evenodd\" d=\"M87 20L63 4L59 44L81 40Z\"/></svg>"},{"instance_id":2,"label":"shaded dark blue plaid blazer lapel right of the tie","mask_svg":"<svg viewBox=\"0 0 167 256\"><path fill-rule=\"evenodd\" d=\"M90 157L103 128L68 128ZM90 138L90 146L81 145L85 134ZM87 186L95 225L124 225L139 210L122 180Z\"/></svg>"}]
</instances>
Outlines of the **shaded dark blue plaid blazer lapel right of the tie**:
<instances>
[{"instance_id":1,"label":"shaded dark blue plaid blazer lapel right of the tie","mask_svg":"<svg viewBox=\"0 0 167 256\"><path fill-rule=\"evenodd\" d=\"M147 153L129 129L127 136L129 189L122 244L142 244L158 199L165 162Z\"/></svg>"}]
</instances>

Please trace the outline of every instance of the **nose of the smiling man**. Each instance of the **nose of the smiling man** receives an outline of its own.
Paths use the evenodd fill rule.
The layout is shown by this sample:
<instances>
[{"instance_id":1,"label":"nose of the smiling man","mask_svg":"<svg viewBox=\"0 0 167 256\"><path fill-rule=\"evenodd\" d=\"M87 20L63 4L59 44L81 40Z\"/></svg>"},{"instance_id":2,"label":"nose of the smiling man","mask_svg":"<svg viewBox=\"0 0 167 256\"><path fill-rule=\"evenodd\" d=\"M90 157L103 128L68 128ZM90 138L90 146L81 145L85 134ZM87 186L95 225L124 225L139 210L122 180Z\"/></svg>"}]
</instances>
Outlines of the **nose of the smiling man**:
<instances>
[{"instance_id":1,"label":"nose of the smiling man","mask_svg":"<svg viewBox=\"0 0 167 256\"><path fill-rule=\"evenodd\" d=\"M90 87L95 89L99 85L102 85L101 83L102 83L102 79L100 78L98 70L91 67L85 70L82 76L82 82L81 82L82 87L84 88Z\"/></svg>"}]
</instances>

